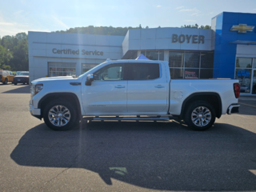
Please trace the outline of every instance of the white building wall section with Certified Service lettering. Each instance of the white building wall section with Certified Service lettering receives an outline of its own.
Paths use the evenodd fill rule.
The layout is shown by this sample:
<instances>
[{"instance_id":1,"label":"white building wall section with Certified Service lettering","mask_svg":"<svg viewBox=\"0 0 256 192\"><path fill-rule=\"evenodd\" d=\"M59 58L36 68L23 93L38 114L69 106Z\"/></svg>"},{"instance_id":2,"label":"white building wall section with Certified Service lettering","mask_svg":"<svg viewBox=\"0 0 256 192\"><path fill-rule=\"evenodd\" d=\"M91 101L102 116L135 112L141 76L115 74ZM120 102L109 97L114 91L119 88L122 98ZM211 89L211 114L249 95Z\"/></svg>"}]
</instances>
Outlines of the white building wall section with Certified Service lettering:
<instances>
[{"instance_id":1,"label":"white building wall section with Certified Service lettering","mask_svg":"<svg viewBox=\"0 0 256 192\"><path fill-rule=\"evenodd\" d=\"M82 64L99 64L106 58L121 59L123 39L123 36L110 35L29 32L30 82L49 75L49 62L76 63L76 75L80 75ZM79 54L64 54L63 51L62 54L54 54L64 49L79 50ZM97 50L103 55L82 54L82 50Z\"/></svg>"}]
</instances>

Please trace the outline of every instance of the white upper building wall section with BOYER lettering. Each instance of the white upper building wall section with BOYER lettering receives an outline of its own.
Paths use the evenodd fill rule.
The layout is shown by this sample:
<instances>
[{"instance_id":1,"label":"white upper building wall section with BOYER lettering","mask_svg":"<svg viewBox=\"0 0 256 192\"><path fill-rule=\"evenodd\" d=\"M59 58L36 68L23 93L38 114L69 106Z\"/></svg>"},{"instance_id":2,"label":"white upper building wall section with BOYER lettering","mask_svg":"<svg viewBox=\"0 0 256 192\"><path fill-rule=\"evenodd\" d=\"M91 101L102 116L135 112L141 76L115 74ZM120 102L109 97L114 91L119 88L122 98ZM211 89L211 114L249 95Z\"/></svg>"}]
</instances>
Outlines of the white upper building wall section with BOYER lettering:
<instances>
[{"instance_id":1,"label":"white upper building wall section with BOYER lettering","mask_svg":"<svg viewBox=\"0 0 256 192\"><path fill-rule=\"evenodd\" d=\"M173 42L172 35L203 35L204 43ZM123 54L128 50L212 50L212 30L198 30L191 28L155 28L129 30L122 43Z\"/></svg>"}]
</instances>

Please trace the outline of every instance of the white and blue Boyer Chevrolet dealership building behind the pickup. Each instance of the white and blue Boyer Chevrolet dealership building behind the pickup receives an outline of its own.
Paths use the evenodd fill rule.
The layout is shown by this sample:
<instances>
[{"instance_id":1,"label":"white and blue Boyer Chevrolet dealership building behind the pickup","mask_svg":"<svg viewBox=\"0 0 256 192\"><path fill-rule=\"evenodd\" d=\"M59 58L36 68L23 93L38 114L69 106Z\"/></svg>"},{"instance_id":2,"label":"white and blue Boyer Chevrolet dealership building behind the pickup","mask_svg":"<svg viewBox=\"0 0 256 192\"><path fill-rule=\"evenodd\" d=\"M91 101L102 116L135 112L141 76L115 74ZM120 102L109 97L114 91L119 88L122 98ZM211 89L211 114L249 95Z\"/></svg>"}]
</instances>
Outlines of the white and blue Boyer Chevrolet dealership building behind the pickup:
<instances>
[{"instance_id":1,"label":"white and blue Boyer Chevrolet dealership building behind the pickup","mask_svg":"<svg viewBox=\"0 0 256 192\"><path fill-rule=\"evenodd\" d=\"M80 75L107 58L143 54L169 62L171 78L237 78L242 94L256 94L256 14L223 12L211 29L164 27L126 36L29 32L30 81Z\"/></svg>"}]
</instances>

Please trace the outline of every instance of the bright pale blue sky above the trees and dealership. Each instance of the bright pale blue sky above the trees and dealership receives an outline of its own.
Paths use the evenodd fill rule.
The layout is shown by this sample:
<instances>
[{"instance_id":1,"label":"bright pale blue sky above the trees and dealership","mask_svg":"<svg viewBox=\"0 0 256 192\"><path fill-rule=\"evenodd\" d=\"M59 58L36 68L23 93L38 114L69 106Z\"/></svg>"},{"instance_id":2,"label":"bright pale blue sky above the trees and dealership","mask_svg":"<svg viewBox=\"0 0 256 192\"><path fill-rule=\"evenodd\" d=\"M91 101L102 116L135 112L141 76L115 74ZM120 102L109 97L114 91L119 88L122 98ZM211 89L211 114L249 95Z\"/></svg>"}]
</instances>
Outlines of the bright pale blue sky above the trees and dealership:
<instances>
[{"instance_id":1,"label":"bright pale blue sky above the trees and dealership","mask_svg":"<svg viewBox=\"0 0 256 192\"><path fill-rule=\"evenodd\" d=\"M0 0L0 36L78 26L210 25L223 11L256 14L256 0Z\"/></svg>"}]
</instances>

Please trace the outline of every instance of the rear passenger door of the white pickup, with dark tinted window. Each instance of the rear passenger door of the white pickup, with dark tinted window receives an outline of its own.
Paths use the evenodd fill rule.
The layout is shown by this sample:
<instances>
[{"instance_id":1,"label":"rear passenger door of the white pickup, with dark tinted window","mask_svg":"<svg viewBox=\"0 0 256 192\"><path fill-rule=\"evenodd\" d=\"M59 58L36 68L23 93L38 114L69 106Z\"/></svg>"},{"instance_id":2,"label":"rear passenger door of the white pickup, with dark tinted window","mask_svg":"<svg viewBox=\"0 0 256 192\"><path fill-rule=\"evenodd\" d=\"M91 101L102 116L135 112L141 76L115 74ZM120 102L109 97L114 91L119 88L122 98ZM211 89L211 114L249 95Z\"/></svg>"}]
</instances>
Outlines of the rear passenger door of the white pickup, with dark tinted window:
<instances>
[{"instance_id":1,"label":"rear passenger door of the white pickup, with dark tinted window","mask_svg":"<svg viewBox=\"0 0 256 192\"><path fill-rule=\"evenodd\" d=\"M168 86L162 63L129 63L127 109L129 114L166 114Z\"/></svg>"}]
</instances>

